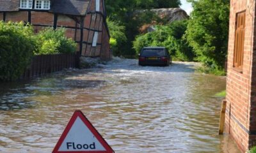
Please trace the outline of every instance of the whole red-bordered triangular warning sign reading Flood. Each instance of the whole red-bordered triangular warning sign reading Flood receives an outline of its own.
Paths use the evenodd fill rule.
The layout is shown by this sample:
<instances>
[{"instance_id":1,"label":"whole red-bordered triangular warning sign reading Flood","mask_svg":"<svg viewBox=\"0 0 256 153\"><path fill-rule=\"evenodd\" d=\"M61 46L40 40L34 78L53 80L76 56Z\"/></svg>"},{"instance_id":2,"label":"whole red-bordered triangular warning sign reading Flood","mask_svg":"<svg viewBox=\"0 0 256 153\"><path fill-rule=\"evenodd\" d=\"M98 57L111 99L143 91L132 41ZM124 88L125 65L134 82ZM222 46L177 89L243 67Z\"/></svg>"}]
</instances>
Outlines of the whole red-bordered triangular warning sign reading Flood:
<instances>
[{"instance_id":1,"label":"whole red-bordered triangular warning sign reading Flood","mask_svg":"<svg viewBox=\"0 0 256 153\"><path fill-rule=\"evenodd\" d=\"M52 153L113 153L84 114L74 112Z\"/></svg>"}]
</instances>

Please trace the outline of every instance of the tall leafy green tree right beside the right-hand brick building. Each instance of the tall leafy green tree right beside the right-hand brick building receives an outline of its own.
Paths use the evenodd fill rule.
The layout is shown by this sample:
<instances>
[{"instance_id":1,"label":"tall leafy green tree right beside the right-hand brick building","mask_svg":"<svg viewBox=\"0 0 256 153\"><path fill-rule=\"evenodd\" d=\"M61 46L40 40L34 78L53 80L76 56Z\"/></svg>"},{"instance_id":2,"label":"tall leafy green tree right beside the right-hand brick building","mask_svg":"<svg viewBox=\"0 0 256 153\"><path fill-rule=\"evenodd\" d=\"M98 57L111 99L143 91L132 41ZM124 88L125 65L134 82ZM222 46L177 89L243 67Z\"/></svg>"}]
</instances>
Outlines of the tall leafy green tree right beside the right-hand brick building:
<instances>
[{"instance_id":1,"label":"tall leafy green tree right beside the right-hand brick building","mask_svg":"<svg viewBox=\"0 0 256 153\"><path fill-rule=\"evenodd\" d=\"M228 47L230 1L188 0L193 5L186 32L189 45L205 66L224 68Z\"/></svg>"}]
</instances>

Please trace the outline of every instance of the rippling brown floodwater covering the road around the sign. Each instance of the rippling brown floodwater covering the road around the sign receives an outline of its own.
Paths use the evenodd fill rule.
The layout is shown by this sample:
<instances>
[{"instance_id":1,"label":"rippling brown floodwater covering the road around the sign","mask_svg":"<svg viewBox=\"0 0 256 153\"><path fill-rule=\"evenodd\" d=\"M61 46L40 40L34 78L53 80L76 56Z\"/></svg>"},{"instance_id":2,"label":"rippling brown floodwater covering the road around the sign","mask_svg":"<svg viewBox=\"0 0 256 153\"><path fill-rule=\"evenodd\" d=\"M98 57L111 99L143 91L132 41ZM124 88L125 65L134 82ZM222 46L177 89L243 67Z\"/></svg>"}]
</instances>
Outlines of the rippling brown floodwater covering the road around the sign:
<instances>
[{"instance_id":1,"label":"rippling brown floodwater covering the road around the sign","mask_svg":"<svg viewBox=\"0 0 256 153\"><path fill-rule=\"evenodd\" d=\"M193 62L141 67L115 59L30 82L0 84L0 152L52 152L74 110L82 110L116 153L239 152L219 136L225 77Z\"/></svg>"}]
</instances>

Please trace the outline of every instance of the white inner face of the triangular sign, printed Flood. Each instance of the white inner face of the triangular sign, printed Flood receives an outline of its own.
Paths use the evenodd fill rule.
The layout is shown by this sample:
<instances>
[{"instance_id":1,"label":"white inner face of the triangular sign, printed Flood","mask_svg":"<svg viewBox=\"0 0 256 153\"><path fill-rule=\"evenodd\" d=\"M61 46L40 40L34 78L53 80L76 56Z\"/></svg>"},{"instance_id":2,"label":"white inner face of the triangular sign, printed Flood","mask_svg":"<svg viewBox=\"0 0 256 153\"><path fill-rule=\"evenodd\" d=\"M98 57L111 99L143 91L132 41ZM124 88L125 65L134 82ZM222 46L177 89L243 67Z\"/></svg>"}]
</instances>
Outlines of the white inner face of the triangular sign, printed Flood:
<instances>
[{"instance_id":1,"label":"white inner face of the triangular sign, printed Flood","mask_svg":"<svg viewBox=\"0 0 256 153\"><path fill-rule=\"evenodd\" d=\"M59 151L106 151L84 122L77 117Z\"/></svg>"}]
</instances>

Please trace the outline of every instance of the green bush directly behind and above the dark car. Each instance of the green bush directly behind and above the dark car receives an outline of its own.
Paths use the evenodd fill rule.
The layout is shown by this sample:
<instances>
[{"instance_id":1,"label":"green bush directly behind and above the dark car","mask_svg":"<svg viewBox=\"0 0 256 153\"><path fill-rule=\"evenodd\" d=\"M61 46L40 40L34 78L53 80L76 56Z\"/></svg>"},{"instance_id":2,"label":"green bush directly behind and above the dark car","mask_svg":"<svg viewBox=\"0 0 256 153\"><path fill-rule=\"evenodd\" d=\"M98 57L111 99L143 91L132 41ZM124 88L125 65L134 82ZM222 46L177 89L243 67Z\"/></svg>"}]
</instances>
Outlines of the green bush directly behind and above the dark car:
<instances>
[{"instance_id":1,"label":"green bush directly behind and above the dark car","mask_svg":"<svg viewBox=\"0 0 256 153\"><path fill-rule=\"evenodd\" d=\"M156 31L136 37L133 48L138 54L143 47L166 47L173 57L179 61L193 61L195 55L184 36L187 21L176 21L169 25L158 25Z\"/></svg>"}]
</instances>

